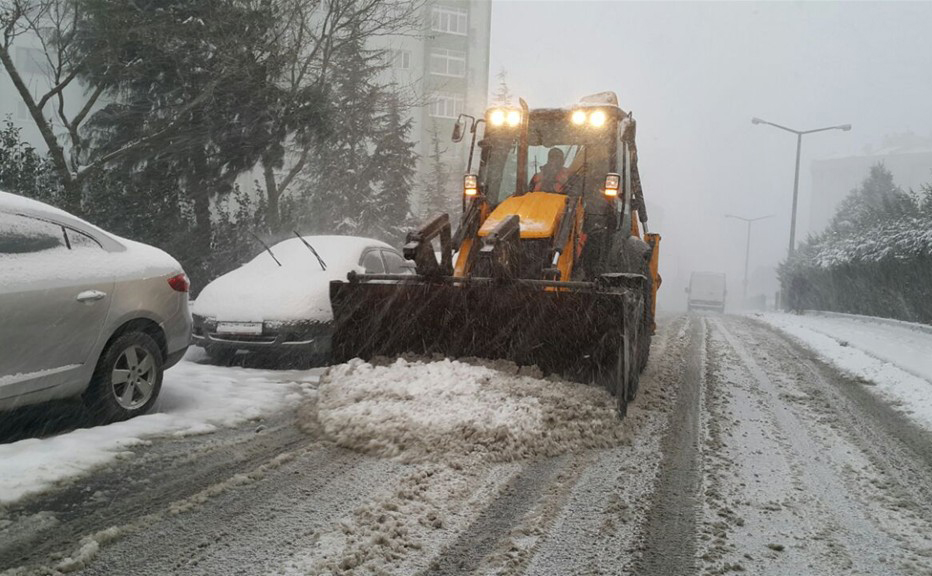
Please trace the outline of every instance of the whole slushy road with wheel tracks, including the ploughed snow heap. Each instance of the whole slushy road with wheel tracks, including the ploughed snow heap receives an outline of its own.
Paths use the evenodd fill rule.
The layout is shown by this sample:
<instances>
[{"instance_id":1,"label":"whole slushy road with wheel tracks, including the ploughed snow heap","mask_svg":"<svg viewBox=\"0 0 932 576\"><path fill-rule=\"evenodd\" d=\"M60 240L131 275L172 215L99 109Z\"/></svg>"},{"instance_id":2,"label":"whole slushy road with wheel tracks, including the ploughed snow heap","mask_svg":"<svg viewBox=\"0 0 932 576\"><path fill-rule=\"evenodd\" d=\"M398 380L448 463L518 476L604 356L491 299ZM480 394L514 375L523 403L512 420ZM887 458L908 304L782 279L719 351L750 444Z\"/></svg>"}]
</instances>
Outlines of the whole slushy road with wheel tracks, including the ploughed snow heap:
<instances>
[{"instance_id":1,"label":"whole slushy road with wheel tracks, including the ploughed snow heap","mask_svg":"<svg viewBox=\"0 0 932 576\"><path fill-rule=\"evenodd\" d=\"M932 574L932 434L757 319L664 319L621 425L500 368L337 370L129 446L0 508L0 573Z\"/></svg>"}]
</instances>

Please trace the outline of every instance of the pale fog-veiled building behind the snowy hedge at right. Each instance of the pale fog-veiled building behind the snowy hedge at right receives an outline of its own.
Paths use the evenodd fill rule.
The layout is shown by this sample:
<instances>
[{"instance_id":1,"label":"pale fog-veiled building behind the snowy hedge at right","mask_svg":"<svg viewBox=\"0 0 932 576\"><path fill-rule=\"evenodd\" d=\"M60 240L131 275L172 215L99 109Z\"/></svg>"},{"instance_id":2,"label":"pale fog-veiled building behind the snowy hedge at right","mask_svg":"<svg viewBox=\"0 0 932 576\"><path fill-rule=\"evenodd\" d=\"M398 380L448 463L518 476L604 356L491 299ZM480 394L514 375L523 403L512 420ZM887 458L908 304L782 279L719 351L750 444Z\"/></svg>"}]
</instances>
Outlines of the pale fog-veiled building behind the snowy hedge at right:
<instances>
[{"instance_id":1,"label":"pale fog-veiled building behind the snowy hedge at right","mask_svg":"<svg viewBox=\"0 0 932 576\"><path fill-rule=\"evenodd\" d=\"M831 222L841 201L878 162L886 166L903 190L918 191L923 184L932 184L932 139L899 134L885 138L883 148L860 156L813 161L810 233L821 232Z\"/></svg>"}]
</instances>

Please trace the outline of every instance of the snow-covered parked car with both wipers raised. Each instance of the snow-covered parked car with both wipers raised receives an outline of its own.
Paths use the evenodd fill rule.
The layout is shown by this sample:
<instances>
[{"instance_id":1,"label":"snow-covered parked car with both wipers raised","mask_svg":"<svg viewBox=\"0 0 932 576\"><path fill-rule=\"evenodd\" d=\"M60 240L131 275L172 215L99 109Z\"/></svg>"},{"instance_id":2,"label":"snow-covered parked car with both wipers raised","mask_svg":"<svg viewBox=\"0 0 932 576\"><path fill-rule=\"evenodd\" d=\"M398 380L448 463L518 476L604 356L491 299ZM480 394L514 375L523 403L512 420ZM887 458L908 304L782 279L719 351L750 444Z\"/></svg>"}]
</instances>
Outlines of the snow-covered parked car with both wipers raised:
<instances>
[{"instance_id":1,"label":"snow-covered parked car with both wipers raised","mask_svg":"<svg viewBox=\"0 0 932 576\"><path fill-rule=\"evenodd\" d=\"M260 252L204 287L194 302L194 343L214 360L239 350L325 361L333 312L330 281L351 271L411 274L384 242L355 236L303 236Z\"/></svg>"}]
</instances>

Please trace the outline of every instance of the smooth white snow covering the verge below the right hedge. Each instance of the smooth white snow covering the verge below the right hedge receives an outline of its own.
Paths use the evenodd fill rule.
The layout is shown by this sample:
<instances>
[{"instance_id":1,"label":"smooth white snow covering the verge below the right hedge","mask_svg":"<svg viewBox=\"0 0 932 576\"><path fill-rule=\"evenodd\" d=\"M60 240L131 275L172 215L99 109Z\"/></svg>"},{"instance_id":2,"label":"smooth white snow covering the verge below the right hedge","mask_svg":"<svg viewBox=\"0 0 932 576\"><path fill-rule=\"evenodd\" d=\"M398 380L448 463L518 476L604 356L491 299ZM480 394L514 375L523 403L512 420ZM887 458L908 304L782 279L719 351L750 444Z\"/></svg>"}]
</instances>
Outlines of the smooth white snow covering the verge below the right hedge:
<instances>
[{"instance_id":1,"label":"smooth white snow covering the verge below the right hedge","mask_svg":"<svg viewBox=\"0 0 932 576\"><path fill-rule=\"evenodd\" d=\"M876 385L887 401L932 430L932 330L883 318L807 313L759 315L836 368Z\"/></svg>"}]
</instances>

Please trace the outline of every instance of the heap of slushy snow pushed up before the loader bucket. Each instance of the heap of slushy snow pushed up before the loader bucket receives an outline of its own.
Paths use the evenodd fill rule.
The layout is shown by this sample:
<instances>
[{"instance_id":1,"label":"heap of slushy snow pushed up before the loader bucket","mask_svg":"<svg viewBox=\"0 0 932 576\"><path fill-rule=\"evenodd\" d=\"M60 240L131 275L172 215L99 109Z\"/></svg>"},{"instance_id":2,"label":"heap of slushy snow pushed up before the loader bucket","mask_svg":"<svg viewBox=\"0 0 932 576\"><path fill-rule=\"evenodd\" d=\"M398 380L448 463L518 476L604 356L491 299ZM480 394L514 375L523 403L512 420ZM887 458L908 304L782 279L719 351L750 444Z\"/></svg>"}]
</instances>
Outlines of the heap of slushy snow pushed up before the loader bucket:
<instances>
[{"instance_id":1,"label":"heap of slushy snow pushed up before the loader bucket","mask_svg":"<svg viewBox=\"0 0 932 576\"><path fill-rule=\"evenodd\" d=\"M317 419L343 447L405 461L439 454L510 461L621 438L607 392L507 362L354 360L322 377Z\"/></svg>"}]
</instances>

